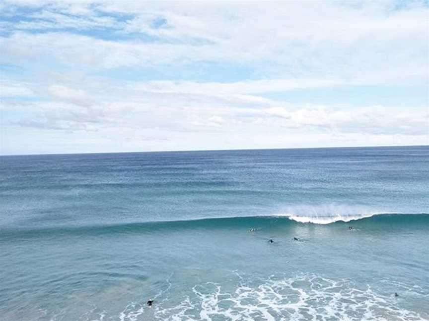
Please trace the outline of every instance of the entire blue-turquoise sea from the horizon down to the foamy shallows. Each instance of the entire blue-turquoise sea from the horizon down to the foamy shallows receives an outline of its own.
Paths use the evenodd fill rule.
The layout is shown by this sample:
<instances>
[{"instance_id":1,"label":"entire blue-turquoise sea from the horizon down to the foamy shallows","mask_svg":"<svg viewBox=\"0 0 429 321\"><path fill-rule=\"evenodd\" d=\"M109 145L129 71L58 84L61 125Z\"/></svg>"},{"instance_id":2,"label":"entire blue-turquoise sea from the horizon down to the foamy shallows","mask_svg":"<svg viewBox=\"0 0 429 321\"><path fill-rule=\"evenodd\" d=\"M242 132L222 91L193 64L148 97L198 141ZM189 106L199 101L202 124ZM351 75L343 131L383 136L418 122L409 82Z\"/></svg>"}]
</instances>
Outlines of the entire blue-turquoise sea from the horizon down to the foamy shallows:
<instances>
[{"instance_id":1,"label":"entire blue-turquoise sea from the horizon down to the foamy shallows","mask_svg":"<svg viewBox=\"0 0 429 321\"><path fill-rule=\"evenodd\" d=\"M0 157L0 320L429 320L428 164L427 146Z\"/></svg>"}]
</instances>

